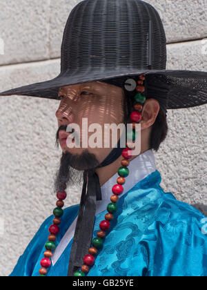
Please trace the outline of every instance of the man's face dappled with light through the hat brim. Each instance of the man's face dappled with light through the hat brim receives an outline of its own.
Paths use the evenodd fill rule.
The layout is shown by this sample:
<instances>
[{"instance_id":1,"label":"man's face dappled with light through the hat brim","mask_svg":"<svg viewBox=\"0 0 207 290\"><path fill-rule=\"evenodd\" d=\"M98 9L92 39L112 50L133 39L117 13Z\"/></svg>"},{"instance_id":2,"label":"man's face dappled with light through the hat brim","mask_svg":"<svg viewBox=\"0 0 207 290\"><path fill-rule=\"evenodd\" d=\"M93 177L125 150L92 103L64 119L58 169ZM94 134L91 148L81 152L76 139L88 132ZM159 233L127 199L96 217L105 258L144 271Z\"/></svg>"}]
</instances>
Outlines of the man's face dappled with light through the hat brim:
<instances>
[{"instance_id":1,"label":"man's face dappled with light through the hat brim","mask_svg":"<svg viewBox=\"0 0 207 290\"><path fill-rule=\"evenodd\" d=\"M92 81L85 84L61 87L59 97L61 101L56 113L58 127L75 123L80 129L78 133L78 135L80 134L78 136L80 148L68 148L68 139L66 142L66 137L70 133L59 131L59 144L63 153L81 155L84 150L87 150L88 153L94 154L99 162L102 162L112 150L111 142L110 148L104 148L104 143L102 148L91 148L90 136L96 132L104 142L104 124L118 125L124 122L124 90L101 81ZM86 128L84 129L82 124L83 118L86 118L88 122L87 131L92 124L99 124L101 130L86 132ZM87 136L87 134L88 148L82 148L82 136ZM120 135L118 134L117 140L119 140L119 137ZM69 140L71 139L69 138Z\"/></svg>"}]
</instances>

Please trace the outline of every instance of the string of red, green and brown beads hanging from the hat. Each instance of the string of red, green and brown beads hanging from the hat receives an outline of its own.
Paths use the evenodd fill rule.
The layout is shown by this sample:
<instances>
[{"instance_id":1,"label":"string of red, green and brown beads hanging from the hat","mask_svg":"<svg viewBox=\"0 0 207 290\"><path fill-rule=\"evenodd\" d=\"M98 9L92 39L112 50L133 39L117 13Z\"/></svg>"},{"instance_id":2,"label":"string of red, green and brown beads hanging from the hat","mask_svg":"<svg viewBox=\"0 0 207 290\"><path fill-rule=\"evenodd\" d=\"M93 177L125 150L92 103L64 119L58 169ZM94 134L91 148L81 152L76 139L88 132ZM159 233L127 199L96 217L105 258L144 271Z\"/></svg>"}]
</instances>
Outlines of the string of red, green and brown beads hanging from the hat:
<instances>
[{"instance_id":1,"label":"string of red, green and brown beads hanging from the hat","mask_svg":"<svg viewBox=\"0 0 207 290\"><path fill-rule=\"evenodd\" d=\"M103 247L103 239L106 237L107 231L110 229L110 222L113 220L113 213L117 211L117 202L119 201L119 195L123 193L126 180L125 178L129 175L128 165L130 164L130 159L132 158L132 147L135 142L135 124L141 121L141 111L146 101L146 96L144 95L144 80L145 76L140 75L139 80L128 79L125 84L126 90L133 91L136 90L137 94L134 97L134 111L130 114L130 119L132 121L132 142L126 144L126 148L122 151L122 156L124 157L121 160L121 167L118 170L119 177L117 178L117 184L112 186L112 196L110 197L111 203L107 206L107 211L105 215L105 220L102 220L99 224L100 231L97 232L97 237L92 239L92 247L88 250L88 254L83 258L83 265L79 271L76 271L74 276L86 276L90 271L90 267L95 264L95 256L97 255L99 249ZM46 251L44 253L44 258L41 259L41 269L39 270L39 276L46 276L48 269L51 266L51 257L52 252L55 251L56 245L56 235L59 233L59 224L61 223L61 216L63 215L64 206L63 200L67 197L66 191L59 191L57 193L57 208L54 209L53 214L55 218L53 224L49 227L50 235L48 236L48 242L46 242L45 247Z\"/></svg>"}]
</instances>

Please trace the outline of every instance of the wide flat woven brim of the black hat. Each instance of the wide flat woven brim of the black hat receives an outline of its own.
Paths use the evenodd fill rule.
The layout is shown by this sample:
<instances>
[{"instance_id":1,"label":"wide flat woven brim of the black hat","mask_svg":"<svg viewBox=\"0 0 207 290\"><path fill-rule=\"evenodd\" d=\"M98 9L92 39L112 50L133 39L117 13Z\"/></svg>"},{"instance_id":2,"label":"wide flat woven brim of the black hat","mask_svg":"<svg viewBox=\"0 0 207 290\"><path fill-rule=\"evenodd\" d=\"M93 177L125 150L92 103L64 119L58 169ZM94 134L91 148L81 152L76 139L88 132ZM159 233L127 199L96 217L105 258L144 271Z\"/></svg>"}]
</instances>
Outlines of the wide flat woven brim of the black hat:
<instances>
[{"instance_id":1,"label":"wide flat woven brim of the black hat","mask_svg":"<svg viewBox=\"0 0 207 290\"><path fill-rule=\"evenodd\" d=\"M148 79L161 77L169 86L168 109L189 108L207 103L207 72L194 70L137 70L135 68L119 68L119 71L86 71L82 73L63 72L54 79L42 81L28 86L6 90L0 96L26 95L58 99L59 88L90 81L104 81L118 77L132 77L145 74ZM104 75L104 77L103 77ZM160 80L160 79L159 79Z\"/></svg>"}]
</instances>

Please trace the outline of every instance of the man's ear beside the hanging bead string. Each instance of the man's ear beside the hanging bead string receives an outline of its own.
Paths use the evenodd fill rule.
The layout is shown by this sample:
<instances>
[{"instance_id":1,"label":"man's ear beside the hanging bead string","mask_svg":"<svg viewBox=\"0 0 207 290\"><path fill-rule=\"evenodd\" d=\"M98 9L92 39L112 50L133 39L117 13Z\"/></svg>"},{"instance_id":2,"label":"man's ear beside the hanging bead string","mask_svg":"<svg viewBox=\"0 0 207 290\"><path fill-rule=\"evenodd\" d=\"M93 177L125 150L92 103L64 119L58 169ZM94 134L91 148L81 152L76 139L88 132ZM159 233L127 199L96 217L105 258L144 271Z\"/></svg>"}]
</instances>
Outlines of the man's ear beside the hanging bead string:
<instances>
[{"instance_id":1,"label":"man's ear beside the hanging bead string","mask_svg":"<svg viewBox=\"0 0 207 290\"><path fill-rule=\"evenodd\" d=\"M157 99L146 99L144 107L141 111L141 130L149 128L155 123L155 119L159 113L159 101Z\"/></svg>"}]
</instances>

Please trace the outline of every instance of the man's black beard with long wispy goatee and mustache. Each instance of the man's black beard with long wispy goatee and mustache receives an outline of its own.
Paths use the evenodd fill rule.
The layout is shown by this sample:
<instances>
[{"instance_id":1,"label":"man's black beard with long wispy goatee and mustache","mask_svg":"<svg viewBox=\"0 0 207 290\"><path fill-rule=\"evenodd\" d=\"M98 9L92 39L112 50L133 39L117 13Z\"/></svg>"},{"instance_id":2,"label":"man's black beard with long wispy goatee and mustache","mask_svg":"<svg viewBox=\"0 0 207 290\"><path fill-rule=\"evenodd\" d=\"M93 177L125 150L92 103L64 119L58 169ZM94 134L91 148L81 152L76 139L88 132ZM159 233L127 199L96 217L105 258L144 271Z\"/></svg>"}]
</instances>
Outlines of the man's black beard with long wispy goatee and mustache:
<instances>
[{"instance_id":1,"label":"man's black beard with long wispy goatee and mustache","mask_svg":"<svg viewBox=\"0 0 207 290\"><path fill-rule=\"evenodd\" d=\"M58 137L60 130L66 130L67 126L61 126L57 131L56 144L59 144ZM88 149L79 154L70 152L62 153L59 169L55 176L55 191L63 191L68 184L81 184L83 181L83 171L97 168L100 162L95 154L89 153Z\"/></svg>"}]
</instances>

